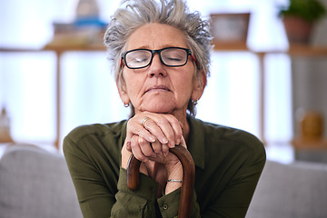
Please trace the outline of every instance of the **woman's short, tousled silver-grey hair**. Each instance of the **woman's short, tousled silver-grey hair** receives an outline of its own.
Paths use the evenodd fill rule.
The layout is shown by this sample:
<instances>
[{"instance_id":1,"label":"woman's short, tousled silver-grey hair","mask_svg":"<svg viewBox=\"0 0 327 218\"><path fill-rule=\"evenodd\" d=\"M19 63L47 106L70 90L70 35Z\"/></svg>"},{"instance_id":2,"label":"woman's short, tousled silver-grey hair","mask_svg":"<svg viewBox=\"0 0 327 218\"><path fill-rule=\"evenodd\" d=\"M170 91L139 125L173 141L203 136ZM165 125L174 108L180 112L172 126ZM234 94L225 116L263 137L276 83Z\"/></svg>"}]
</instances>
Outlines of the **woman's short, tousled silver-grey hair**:
<instances>
[{"instance_id":1,"label":"woman's short, tousled silver-grey hair","mask_svg":"<svg viewBox=\"0 0 327 218\"><path fill-rule=\"evenodd\" d=\"M125 5L125 6L124 6ZM199 68L206 76L210 75L210 52L213 48L209 33L209 22L201 18L200 13L191 13L183 0L123 0L109 23L104 34L107 58L112 63L114 79L124 83L121 67L121 54L124 52L128 37L137 28L152 23L171 25L181 30L186 37ZM196 67L195 67L196 68ZM196 68L195 76L199 78ZM134 108L132 106L132 115ZM190 114L195 115L195 106L191 100L188 105Z\"/></svg>"}]
</instances>

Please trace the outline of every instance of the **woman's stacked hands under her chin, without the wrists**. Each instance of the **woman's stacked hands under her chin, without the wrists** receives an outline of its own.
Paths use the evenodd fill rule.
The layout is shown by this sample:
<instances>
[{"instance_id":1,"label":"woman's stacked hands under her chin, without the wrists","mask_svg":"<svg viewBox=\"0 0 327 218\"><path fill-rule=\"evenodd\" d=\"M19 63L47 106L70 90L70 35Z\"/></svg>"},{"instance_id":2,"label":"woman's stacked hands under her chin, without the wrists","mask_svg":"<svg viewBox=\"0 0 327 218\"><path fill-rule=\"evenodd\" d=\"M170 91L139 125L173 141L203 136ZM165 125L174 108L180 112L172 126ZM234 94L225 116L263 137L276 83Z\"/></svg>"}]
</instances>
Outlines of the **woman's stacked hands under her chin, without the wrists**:
<instances>
[{"instance_id":1,"label":"woman's stacked hands under her chin, without the wrists","mask_svg":"<svg viewBox=\"0 0 327 218\"><path fill-rule=\"evenodd\" d=\"M182 138L182 124L173 115L142 113L128 121L125 144L136 159L146 162L166 156Z\"/></svg>"}]
</instances>

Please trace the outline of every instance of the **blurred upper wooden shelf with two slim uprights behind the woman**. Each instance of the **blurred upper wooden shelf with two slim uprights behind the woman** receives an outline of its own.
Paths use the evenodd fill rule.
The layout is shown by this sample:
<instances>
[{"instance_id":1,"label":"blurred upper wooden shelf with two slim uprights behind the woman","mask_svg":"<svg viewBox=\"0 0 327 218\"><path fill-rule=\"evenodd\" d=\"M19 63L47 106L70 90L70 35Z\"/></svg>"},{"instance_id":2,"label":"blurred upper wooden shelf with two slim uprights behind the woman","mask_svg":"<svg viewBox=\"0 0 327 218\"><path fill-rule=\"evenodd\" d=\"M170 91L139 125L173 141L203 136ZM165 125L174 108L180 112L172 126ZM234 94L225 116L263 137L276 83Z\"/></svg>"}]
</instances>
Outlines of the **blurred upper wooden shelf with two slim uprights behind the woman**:
<instances>
[{"instance_id":1,"label":"blurred upper wooden shelf with two slim uprights behind the woman","mask_svg":"<svg viewBox=\"0 0 327 218\"><path fill-rule=\"evenodd\" d=\"M260 138L264 142L264 117L265 117L265 67L264 67L264 56L266 54L289 54L292 56L327 56L327 46L316 46L316 45L291 45L288 50L267 50L267 51L253 51L245 44L223 44L219 42L213 42L213 50L217 52L251 52L257 54L259 58L259 69L260 69ZM60 139L60 109L61 109L61 61L60 56L64 52L80 51L80 52L94 52L94 51L105 51L104 45L45 45L41 49L28 49L28 48L1 48L0 53L24 53L24 52L42 52L42 51L53 51L56 56L56 146L59 148Z\"/></svg>"}]
</instances>

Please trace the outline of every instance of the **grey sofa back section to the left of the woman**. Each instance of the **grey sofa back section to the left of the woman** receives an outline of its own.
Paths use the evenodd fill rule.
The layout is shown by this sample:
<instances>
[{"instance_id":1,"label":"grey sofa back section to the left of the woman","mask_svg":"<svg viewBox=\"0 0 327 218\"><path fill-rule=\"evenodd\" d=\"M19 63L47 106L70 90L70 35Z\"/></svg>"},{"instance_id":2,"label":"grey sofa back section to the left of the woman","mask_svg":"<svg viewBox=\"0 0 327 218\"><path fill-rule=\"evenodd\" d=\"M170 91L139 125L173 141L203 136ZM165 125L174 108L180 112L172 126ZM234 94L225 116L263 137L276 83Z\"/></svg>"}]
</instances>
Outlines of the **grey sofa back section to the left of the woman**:
<instances>
[{"instance_id":1,"label":"grey sofa back section to the left of the woman","mask_svg":"<svg viewBox=\"0 0 327 218\"><path fill-rule=\"evenodd\" d=\"M0 160L0 218L82 217L64 156L11 145Z\"/></svg>"}]
</instances>

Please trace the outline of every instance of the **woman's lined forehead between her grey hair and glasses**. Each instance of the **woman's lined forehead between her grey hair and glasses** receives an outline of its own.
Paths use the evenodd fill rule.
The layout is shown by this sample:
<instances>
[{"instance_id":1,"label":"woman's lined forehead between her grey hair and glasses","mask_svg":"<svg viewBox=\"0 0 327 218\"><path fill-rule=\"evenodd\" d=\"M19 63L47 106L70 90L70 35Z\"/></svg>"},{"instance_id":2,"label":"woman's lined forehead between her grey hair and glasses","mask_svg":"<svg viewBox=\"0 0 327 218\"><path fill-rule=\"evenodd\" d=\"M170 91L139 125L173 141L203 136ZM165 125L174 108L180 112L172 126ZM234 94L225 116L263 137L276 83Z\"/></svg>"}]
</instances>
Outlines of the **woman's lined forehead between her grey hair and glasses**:
<instances>
[{"instance_id":1,"label":"woman's lined forehead between her grey hair and glasses","mask_svg":"<svg viewBox=\"0 0 327 218\"><path fill-rule=\"evenodd\" d=\"M175 46L187 48L184 33L171 26L163 24L148 24L136 29L127 40L127 50L136 48L161 49Z\"/></svg>"}]
</instances>

